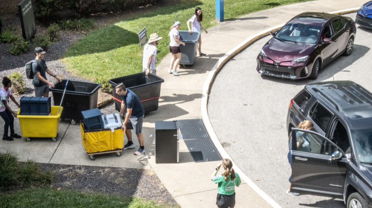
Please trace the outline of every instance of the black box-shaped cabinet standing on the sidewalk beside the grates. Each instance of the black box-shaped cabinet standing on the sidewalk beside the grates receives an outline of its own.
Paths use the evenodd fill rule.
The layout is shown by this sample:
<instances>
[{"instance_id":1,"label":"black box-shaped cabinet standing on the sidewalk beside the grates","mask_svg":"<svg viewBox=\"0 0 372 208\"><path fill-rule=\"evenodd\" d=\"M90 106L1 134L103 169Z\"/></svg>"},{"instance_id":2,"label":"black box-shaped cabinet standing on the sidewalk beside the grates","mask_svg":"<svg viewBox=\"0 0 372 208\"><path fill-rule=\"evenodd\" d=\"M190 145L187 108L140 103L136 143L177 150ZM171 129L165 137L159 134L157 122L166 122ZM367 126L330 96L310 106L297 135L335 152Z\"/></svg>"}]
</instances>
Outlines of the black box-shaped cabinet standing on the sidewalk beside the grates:
<instances>
[{"instance_id":1,"label":"black box-shaped cabinet standing on the sidewalk beside the grates","mask_svg":"<svg viewBox=\"0 0 372 208\"><path fill-rule=\"evenodd\" d=\"M155 162L179 162L177 121L155 121Z\"/></svg>"}]
</instances>

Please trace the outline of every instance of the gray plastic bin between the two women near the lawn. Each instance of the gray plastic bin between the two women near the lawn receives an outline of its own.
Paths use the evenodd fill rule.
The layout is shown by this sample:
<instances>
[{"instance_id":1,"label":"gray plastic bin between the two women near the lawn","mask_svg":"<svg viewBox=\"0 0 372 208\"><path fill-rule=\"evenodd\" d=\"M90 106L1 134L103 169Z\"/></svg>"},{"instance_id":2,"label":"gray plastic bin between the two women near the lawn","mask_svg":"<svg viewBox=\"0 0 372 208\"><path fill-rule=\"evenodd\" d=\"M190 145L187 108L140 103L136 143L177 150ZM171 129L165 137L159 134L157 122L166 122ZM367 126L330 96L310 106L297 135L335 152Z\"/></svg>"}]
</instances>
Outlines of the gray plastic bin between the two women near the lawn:
<instances>
[{"instance_id":1,"label":"gray plastic bin between the two women near the lawn","mask_svg":"<svg viewBox=\"0 0 372 208\"><path fill-rule=\"evenodd\" d=\"M192 32L190 35L188 31L178 31L180 33L181 42L185 43L185 46L180 45L181 50L181 61L180 64L193 65L195 62L197 52L197 41L199 40L200 33Z\"/></svg>"}]
</instances>

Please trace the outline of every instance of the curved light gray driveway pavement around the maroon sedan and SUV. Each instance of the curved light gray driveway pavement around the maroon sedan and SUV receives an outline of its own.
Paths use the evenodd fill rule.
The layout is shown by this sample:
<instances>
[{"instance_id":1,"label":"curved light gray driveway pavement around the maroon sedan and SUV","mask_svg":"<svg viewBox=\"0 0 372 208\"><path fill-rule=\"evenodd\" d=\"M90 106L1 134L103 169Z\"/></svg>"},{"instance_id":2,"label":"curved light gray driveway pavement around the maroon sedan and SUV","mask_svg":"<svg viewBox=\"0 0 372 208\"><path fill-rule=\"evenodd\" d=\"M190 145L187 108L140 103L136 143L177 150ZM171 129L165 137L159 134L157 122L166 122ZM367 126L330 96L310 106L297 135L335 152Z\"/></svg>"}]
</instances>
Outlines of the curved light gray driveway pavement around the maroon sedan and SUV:
<instances>
[{"instance_id":1,"label":"curved light gray driveway pavement around the maroon sedan and SUV","mask_svg":"<svg viewBox=\"0 0 372 208\"><path fill-rule=\"evenodd\" d=\"M345 16L355 20L356 13ZM309 83L352 80L372 91L372 30L357 25L356 34L353 53L325 66L316 80L261 76L255 70L256 57L268 36L230 59L211 86L208 115L221 144L248 178L283 208L345 207L342 200L285 193L291 174L286 118L290 100Z\"/></svg>"}]
</instances>

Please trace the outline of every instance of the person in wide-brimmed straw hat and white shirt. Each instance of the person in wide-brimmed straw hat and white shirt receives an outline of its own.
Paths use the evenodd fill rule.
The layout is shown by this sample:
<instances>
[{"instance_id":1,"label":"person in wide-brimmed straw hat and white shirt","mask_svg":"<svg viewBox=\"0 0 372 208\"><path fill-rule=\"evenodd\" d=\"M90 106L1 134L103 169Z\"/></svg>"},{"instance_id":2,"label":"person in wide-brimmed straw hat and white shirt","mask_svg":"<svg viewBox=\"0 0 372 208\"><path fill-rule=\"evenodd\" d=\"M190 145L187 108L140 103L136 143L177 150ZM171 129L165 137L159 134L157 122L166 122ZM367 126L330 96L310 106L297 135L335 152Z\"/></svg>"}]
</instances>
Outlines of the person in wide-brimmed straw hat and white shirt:
<instances>
[{"instance_id":1,"label":"person in wide-brimmed straw hat and white shirt","mask_svg":"<svg viewBox=\"0 0 372 208\"><path fill-rule=\"evenodd\" d=\"M159 44L159 40L161 39L162 37L159 37L158 34L153 33L150 35L148 43L143 47L142 67L143 72L146 72L146 76L148 73L156 75L155 63L158 61L156 59L156 53L158 52L156 45Z\"/></svg>"}]
</instances>

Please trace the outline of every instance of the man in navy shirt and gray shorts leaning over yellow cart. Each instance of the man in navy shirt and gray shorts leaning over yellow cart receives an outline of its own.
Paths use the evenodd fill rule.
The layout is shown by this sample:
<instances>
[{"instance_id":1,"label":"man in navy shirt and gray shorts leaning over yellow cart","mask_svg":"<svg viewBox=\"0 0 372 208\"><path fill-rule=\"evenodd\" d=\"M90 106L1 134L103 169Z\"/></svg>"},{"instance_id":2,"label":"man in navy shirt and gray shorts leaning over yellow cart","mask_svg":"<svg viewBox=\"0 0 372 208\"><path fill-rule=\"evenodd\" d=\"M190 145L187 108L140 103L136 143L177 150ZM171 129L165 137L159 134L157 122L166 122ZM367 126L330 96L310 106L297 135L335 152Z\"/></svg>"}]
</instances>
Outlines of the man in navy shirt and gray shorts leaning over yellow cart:
<instances>
[{"instance_id":1,"label":"man in navy shirt and gray shorts leaning over yellow cart","mask_svg":"<svg viewBox=\"0 0 372 208\"><path fill-rule=\"evenodd\" d=\"M128 138L128 143L124 145L123 150L128 148L133 149L134 144L132 142L132 132L130 129L135 131L137 135L137 139L139 142L139 149L134 155L141 155L145 152L145 146L143 144L143 135L142 135L142 123L143 123L143 115L145 114L145 110L141 102L139 101L138 97L129 89L125 88L123 83L120 83L115 87L116 93L122 96L123 102L120 108L120 115L123 115L123 112L126 108L125 119L123 122L122 129L125 131L125 135ZM126 125L130 120L131 126Z\"/></svg>"}]
</instances>

